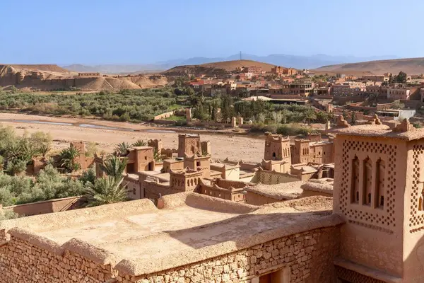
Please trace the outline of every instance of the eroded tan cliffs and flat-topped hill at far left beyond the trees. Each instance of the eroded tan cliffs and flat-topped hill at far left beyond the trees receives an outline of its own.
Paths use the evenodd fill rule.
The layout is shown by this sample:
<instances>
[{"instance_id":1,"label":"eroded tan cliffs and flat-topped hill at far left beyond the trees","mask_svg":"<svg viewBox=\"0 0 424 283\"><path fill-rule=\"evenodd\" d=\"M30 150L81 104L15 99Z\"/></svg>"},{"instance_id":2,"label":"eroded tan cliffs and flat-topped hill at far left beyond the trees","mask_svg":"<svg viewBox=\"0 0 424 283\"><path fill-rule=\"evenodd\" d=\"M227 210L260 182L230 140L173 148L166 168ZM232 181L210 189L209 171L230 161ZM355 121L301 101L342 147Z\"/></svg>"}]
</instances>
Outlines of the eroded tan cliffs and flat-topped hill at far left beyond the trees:
<instances>
[{"instance_id":1,"label":"eroded tan cliffs and flat-topped hill at far left beyond the trees","mask_svg":"<svg viewBox=\"0 0 424 283\"><path fill-rule=\"evenodd\" d=\"M167 83L167 77L163 75L80 77L78 73L57 65L0 65L0 86L6 90L16 86L31 91L117 91L165 86Z\"/></svg>"}]
</instances>

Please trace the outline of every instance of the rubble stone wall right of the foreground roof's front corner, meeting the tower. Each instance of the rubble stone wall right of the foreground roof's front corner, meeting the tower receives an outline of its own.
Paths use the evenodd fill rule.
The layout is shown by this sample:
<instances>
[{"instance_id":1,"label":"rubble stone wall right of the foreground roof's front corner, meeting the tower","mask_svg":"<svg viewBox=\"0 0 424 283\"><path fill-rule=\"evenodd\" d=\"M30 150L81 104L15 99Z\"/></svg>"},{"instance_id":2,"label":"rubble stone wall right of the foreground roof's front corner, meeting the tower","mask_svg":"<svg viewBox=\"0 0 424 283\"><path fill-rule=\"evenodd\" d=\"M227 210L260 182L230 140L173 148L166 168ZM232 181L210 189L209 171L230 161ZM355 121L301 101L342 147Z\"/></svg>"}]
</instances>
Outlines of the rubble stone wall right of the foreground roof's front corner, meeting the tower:
<instances>
[{"instance_id":1,"label":"rubble stone wall right of the foreground roof's front corner, meeting the tower","mask_svg":"<svg viewBox=\"0 0 424 283\"><path fill-rule=\"evenodd\" d=\"M338 227L316 229L152 275L128 277L119 272L117 281L247 283L259 282L261 275L288 269L290 283L333 282L337 238Z\"/></svg>"}]
</instances>

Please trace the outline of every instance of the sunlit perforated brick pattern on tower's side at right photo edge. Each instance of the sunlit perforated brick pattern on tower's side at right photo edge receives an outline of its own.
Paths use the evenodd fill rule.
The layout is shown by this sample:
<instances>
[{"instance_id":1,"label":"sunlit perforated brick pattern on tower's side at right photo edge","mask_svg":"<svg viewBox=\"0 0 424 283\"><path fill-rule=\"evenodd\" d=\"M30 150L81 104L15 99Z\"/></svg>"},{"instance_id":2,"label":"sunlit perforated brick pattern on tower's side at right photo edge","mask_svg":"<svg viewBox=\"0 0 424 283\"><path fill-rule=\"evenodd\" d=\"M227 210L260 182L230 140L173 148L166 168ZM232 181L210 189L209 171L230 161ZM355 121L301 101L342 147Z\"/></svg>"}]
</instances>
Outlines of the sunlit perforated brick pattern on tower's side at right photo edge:
<instances>
[{"instance_id":1,"label":"sunlit perforated brick pattern on tower's side at right photo edge","mask_svg":"<svg viewBox=\"0 0 424 283\"><path fill-rule=\"evenodd\" d=\"M411 191L411 215L409 216L409 233L415 233L424 229L424 213L418 212L419 197L423 190L420 183L420 159L423 158L424 146L413 146L413 181Z\"/></svg>"}]
</instances>

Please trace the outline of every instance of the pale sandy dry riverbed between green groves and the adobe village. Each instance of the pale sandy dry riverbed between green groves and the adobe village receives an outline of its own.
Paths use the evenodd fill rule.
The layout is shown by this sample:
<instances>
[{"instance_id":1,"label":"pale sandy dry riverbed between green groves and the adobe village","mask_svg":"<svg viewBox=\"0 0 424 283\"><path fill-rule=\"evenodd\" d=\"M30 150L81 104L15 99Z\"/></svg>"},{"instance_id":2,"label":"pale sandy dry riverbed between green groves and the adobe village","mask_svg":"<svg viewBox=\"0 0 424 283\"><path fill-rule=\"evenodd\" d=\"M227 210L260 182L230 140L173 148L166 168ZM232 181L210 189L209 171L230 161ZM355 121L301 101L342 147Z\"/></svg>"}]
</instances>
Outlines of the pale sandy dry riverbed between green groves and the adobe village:
<instances>
[{"instance_id":1,"label":"pale sandy dry riverbed between green groves and the adobe village","mask_svg":"<svg viewBox=\"0 0 424 283\"><path fill-rule=\"evenodd\" d=\"M5 122L4 120L40 120L48 122L66 122L75 125L47 125L31 122ZM131 124L126 122L110 122L90 119L75 119L66 117L46 117L16 113L0 113L1 125L11 125L18 134L24 131L29 133L42 131L49 132L54 139L54 149L63 149L69 146L69 141L94 141L98 144L98 151L112 152L116 144L126 141L132 143L137 139L161 139L165 148L177 149L178 133L169 132L125 132L111 129L93 129L78 127L81 124L95 124L106 127L119 127L134 130L162 129L151 125ZM259 162L264 156L264 141L252 137L232 136L232 134L201 134L202 141L211 141L212 158L232 161Z\"/></svg>"}]
</instances>

